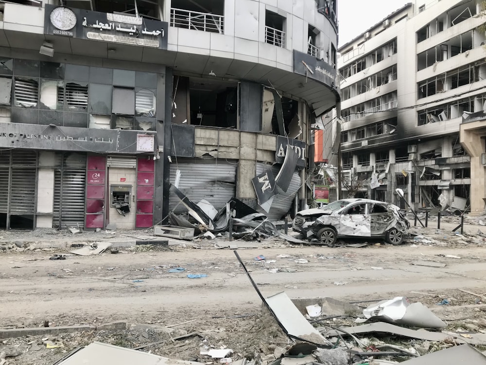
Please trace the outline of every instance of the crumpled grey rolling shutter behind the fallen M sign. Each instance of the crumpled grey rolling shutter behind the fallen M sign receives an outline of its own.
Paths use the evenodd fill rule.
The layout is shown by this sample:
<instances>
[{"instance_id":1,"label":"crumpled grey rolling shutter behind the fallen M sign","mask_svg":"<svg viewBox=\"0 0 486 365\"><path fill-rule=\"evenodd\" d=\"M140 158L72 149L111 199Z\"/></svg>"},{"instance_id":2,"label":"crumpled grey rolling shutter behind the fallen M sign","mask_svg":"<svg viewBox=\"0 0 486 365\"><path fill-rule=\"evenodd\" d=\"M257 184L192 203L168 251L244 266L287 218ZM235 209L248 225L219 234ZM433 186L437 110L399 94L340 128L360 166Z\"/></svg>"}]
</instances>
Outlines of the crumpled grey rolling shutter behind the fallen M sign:
<instances>
[{"instance_id":1,"label":"crumpled grey rolling shutter behind the fallen M sign","mask_svg":"<svg viewBox=\"0 0 486 365\"><path fill-rule=\"evenodd\" d=\"M257 162L257 175L260 175L262 172L266 170L272 170L273 175L277 176L278 171L280 171L280 165L269 166L261 162ZM270 211L268 213L265 212L263 209L261 209L260 205L258 204L256 205L255 209L260 213L265 214L270 220L279 220L283 216L285 216L285 214L287 214L287 212L289 211L290 207L292 206L292 203L294 202L295 195L297 195L299 189L300 189L300 176L298 171L295 171L294 175L292 176L292 181L290 183L290 186L287 189L287 192L284 192L277 185L278 194L274 196L272 206L270 207Z\"/></svg>"}]
</instances>

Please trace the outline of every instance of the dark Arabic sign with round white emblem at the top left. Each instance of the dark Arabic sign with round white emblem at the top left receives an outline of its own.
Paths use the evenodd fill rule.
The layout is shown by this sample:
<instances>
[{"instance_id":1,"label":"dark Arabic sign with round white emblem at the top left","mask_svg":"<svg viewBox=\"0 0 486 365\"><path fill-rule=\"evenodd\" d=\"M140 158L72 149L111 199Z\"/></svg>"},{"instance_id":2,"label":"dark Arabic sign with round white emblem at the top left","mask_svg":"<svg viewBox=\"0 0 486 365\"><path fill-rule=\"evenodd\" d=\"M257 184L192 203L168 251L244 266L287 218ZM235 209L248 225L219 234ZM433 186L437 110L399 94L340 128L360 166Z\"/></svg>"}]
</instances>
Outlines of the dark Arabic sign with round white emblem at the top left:
<instances>
[{"instance_id":1,"label":"dark Arabic sign with round white emblem at the top left","mask_svg":"<svg viewBox=\"0 0 486 365\"><path fill-rule=\"evenodd\" d=\"M168 23L46 4L44 33L167 49Z\"/></svg>"}]
</instances>

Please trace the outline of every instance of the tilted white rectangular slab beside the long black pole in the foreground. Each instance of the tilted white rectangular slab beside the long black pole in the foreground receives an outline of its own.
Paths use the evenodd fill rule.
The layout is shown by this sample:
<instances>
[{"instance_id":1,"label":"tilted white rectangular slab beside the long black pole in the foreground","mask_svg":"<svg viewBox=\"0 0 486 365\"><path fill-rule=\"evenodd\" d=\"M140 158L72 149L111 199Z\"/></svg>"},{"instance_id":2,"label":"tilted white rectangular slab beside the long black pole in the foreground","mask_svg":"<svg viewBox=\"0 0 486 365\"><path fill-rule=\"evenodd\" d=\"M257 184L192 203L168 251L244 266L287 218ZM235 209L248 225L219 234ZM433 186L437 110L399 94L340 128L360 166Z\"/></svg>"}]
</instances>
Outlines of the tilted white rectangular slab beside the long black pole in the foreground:
<instances>
[{"instance_id":1,"label":"tilted white rectangular slab beside the long black pole in the foreground","mask_svg":"<svg viewBox=\"0 0 486 365\"><path fill-rule=\"evenodd\" d=\"M329 345L317 329L315 329L295 307L285 292L266 298L266 302L282 324L287 334L318 345Z\"/></svg>"}]
</instances>

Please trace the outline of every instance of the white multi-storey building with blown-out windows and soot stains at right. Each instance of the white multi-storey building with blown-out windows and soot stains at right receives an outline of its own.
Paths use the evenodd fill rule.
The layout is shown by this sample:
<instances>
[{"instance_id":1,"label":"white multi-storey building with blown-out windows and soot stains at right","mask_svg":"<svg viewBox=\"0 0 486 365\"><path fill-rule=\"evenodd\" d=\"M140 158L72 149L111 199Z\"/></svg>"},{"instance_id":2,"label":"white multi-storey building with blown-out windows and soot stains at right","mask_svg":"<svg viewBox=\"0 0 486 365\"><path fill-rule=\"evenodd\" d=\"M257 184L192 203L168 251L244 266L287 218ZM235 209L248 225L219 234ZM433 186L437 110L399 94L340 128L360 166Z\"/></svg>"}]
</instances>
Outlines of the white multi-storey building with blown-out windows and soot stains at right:
<instances>
[{"instance_id":1,"label":"white multi-storey building with blown-out windows and soot stains at right","mask_svg":"<svg viewBox=\"0 0 486 365\"><path fill-rule=\"evenodd\" d=\"M400 188L415 209L483 212L481 2L407 3L339 47L342 167L357 197L403 206Z\"/></svg>"}]
</instances>

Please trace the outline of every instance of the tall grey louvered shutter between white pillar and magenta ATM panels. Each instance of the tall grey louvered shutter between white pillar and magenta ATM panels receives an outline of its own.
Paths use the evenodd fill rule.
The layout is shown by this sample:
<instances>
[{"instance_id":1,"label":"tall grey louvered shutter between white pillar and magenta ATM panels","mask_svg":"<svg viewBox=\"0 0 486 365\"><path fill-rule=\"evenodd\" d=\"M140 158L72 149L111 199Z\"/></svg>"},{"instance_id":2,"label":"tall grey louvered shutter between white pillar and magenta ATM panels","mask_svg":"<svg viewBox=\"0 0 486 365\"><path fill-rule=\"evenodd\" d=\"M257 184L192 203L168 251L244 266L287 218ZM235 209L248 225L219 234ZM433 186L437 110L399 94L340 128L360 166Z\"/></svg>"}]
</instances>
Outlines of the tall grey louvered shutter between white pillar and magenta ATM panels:
<instances>
[{"instance_id":1,"label":"tall grey louvered shutter between white pillar and magenta ATM panels","mask_svg":"<svg viewBox=\"0 0 486 365\"><path fill-rule=\"evenodd\" d=\"M66 225L84 228L85 221L85 188L86 188L86 156L66 154L70 156L56 158L64 161L61 168L54 170L54 214L52 226L66 228ZM68 167L69 166L69 167Z\"/></svg>"}]
</instances>

